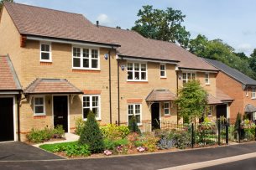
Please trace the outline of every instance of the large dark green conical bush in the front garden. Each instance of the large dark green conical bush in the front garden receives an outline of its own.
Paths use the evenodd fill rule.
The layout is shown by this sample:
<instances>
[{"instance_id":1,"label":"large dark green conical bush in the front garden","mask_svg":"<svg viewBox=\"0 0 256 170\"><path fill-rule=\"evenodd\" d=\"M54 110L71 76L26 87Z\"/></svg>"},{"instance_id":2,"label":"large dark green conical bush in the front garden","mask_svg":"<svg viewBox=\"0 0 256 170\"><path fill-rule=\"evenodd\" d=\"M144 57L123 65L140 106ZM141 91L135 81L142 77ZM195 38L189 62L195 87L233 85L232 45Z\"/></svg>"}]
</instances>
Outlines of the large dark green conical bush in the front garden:
<instances>
[{"instance_id":1,"label":"large dark green conical bush in the front garden","mask_svg":"<svg viewBox=\"0 0 256 170\"><path fill-rule=\"evenodd\" d=\"M102 131L92 111L89 112L87 121L82 128L79 143L81 145L88 145L92 153L102 152L104 149Z\"/></svg>"}]
</instances>

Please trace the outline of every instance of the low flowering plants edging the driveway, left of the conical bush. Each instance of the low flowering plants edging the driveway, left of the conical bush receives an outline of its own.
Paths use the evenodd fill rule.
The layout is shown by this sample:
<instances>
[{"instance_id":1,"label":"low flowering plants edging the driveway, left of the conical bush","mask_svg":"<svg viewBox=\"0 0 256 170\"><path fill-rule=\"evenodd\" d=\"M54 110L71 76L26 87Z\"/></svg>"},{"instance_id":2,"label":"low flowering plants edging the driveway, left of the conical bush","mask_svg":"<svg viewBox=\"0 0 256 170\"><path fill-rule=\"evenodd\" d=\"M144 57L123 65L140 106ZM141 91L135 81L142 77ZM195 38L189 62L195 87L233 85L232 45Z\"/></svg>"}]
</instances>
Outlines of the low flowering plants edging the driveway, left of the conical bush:
<instances>
[{"instance_id":1,"label":"low flowering plants edging the driveway, left of the conical bush","mask_svg":"<svg viewBox=\"0 0 256 170\"><path fill-rule=\"evenodd\" d=\"M91 155L87 145L79 145L77 143L71 145L57 145L53 152L65 152L68 157Z\"/></svg>"}]
</instances>

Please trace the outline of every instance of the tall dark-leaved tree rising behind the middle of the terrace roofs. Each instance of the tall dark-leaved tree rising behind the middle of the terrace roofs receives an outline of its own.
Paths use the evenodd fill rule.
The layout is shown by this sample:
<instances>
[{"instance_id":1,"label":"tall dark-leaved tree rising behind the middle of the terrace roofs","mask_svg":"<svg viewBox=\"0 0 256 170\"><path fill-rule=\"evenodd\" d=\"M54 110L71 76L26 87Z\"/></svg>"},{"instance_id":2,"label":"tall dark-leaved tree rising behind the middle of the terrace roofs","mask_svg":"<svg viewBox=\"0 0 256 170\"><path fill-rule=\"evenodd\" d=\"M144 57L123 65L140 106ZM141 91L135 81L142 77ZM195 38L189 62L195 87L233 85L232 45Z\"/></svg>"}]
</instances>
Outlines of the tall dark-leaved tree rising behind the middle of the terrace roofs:
<instances>
[{"instance_id":1,"label":"tall dark-leaved tree rising behind the middle of the terrace roofs","mask_svg":"<svg viewBox=\"0 0 256 170\"><path fill-rule=\"evenodd\" d=\"M184 48L188 46L191 34L181 25L185 15L180 10L160 10L147 5L138 10L137 16L139 19L135 21L132 30L145 38L179 43Z\"/></svg>"}]
</instances>

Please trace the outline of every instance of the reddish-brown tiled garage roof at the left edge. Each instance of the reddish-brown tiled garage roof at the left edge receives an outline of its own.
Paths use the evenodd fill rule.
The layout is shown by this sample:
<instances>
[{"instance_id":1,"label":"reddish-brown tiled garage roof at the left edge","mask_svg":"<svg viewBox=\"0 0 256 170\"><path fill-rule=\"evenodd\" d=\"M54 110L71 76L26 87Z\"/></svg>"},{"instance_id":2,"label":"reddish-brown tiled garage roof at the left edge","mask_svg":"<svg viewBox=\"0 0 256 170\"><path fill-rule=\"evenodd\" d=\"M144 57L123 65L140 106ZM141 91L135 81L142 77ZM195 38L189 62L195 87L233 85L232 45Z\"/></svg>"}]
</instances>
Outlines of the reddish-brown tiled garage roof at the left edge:
<instances>
[{"instance_id":1,"label":"reddish-brown tiled garage roof at the left edge","mask_svg":"<svg viewBox=\"0 0 256 170\"><path fill-rule=\"evenodd\" d=\"M0 90L22 90L12 61L8 56L0 56Z\"/></svg>"}]
</instances>

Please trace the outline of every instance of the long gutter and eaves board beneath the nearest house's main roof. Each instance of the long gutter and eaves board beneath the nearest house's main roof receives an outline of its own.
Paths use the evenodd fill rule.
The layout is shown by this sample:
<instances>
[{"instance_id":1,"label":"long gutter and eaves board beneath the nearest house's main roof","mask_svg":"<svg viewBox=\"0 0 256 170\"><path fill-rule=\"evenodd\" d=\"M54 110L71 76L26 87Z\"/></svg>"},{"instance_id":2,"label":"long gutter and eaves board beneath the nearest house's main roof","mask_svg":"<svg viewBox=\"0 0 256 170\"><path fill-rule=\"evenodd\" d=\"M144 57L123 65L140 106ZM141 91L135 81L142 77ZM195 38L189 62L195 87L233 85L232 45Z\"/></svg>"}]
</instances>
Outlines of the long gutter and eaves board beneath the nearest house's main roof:
<instances>
[{"instance_id":1,"label":"long gutter and eaves board beneath the nearest house's main roof","mask_svg":"<svg viewBox=\"0 0 256 170\"><path fill-rule=\"evenodd\" d=\"M81 45L81 46L102 47L107 49L117 49L118 47L121 47L121 45L119 44L104 44L104 43L97 43L97 42L90 42L90 41L59 39L59 38L51 38L51 37L35 36L35 35L26 35L26 36L27 36L26 39L29 39L29 40L60 43L60 44L74 44L74 45Z\"/></svg>"}]
</instances>

